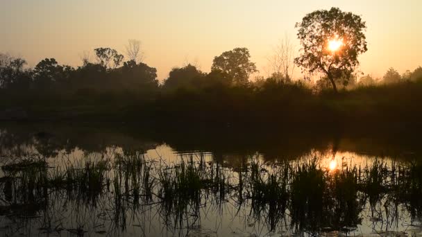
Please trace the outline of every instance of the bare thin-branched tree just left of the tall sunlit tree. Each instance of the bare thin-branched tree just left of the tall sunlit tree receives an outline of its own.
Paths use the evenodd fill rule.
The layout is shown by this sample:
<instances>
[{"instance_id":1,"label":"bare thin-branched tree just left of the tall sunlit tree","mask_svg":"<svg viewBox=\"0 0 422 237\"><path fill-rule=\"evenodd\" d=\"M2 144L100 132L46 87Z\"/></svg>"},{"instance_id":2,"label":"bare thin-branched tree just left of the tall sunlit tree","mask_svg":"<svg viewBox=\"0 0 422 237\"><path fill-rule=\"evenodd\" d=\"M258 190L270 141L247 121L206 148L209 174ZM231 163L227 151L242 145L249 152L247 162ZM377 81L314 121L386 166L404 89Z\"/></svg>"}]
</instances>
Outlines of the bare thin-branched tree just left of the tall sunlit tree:
<instances>
[{"instance_id":1,"label":"bare thin-branched tree just left of the tall sunlit tree","mask_svg":"<svg viewBox=\"0 0 422 237\"><path fill-rule=\"evenodd\" d=\"M273 48L273 54L267 58L271 78L290 82L295 68L295 56L294 46L286 36Z\"/></svg>"}]
</instances>

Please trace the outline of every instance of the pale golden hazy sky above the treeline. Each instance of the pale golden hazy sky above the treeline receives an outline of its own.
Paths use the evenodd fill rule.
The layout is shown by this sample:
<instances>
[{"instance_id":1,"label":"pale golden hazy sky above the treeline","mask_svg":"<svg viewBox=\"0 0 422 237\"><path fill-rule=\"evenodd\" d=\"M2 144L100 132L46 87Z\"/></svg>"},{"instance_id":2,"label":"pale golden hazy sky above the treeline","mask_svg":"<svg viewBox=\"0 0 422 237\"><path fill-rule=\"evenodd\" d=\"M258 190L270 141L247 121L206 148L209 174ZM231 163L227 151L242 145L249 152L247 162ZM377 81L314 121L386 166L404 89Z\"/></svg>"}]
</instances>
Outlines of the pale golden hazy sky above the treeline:
<instances>
[{"instance_id":1,"label":"pale golden hazy sky above the treeline","mask_svg":"<svg viewBox=\"0 0 422 237\"><path fill-rule=\"evenodd\" d=\"M382 76L422 66L422 0L0 0L0 52L22 56L33 67L43 58L81 64L99 46L121 53L128 39L142 41L145 62L159 79L172 67L212 59L247 47L263 76L271 46L313 10L332 6L361 15L369 51L360 70ZM299 70L296 70L299 71Z\"/></svg>"}]
</instances>

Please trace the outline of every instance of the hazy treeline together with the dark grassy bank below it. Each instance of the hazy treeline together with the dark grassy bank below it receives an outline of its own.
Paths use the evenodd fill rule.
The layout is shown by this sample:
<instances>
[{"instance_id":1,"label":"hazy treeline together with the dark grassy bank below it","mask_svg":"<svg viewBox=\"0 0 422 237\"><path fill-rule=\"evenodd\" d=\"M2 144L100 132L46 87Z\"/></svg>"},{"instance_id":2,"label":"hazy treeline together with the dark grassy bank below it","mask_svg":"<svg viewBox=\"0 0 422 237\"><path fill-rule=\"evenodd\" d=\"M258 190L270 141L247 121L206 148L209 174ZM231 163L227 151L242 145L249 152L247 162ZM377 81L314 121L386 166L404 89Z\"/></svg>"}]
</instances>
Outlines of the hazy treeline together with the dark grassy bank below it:
<instances>
[{"instance_id":1,"label":"hazy treeline together with the dark grassy bank below it","mask_svg":"<svg viewBox=\"0 0 422 237\"><path fill-rule=\"evenodd\" d=\"M114 49L94 50L74 68L53 58L25 67L22 58L0 55L0 112L24 111L22 116L0 113L0 119L93 119L94 121L154 121L206 123L230 127L289 124L330 128L420 123L422 68L403 76L390 69L385 82L365 76L339 78L344 88L335 93L321 78L292 80L289 73L249 80L257 72L246 48L214 58L210 73L192 64L176 67L160 83L157 70L137 53L129 60ZM346 89L352 88L352 89ZM297 128L297 127L295 127ZM407 128L407 127L406 127Z\"/></svg>"}]
</instances>

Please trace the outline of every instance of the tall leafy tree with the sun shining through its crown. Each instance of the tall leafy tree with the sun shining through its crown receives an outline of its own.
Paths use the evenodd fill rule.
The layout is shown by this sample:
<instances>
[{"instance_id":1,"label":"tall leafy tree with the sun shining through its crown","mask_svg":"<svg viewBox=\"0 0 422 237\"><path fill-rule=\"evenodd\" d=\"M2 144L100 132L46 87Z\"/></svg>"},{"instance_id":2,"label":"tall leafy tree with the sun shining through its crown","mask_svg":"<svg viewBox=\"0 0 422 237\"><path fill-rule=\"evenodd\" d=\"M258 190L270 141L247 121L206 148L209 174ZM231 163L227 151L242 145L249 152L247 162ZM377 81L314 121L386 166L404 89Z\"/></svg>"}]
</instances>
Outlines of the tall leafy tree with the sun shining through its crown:
<instances>
[{"instance_id":1,"label":"tall leafy tree with the sun shining through its crown","mask_svg":"<svg viewBox=\"0 0 422 237\"><path fill-rule=\"evenodd\" d=\"M296 28L302 45L296 64L309 73L325 74L337 92L336 80L350 77L358 55L367 51L365 22L352 12L331 8L307 14Z\"/></svg>"}]
</instances>

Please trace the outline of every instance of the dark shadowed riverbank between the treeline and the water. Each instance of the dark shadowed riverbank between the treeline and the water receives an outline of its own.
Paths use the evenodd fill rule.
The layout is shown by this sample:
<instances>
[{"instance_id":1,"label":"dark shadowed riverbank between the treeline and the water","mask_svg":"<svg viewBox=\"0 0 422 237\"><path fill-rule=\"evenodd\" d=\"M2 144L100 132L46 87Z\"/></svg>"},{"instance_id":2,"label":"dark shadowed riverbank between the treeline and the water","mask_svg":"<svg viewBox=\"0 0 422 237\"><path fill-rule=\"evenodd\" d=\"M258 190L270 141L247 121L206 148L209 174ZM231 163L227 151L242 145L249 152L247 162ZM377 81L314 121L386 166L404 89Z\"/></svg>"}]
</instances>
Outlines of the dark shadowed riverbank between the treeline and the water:
<instances>
[{"instance_id":1,"label":"dark shadowed riverbank between the treeline and the water","mask_svg":"<svg viewBox=\"0 0 422 237\"><path fill-rule=\"evenodd\" d=\"M359 87L314 94L301 85L178 90L144 97L135 91L83 96L1 94L0 121L130 123L262 130L392 130L422 128L422 83ZM7 98L7 99L6 99Z\"/></svg>"}]
</instances>

